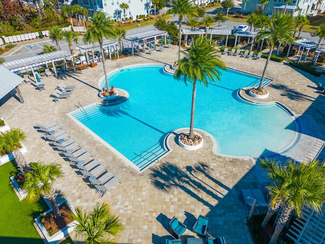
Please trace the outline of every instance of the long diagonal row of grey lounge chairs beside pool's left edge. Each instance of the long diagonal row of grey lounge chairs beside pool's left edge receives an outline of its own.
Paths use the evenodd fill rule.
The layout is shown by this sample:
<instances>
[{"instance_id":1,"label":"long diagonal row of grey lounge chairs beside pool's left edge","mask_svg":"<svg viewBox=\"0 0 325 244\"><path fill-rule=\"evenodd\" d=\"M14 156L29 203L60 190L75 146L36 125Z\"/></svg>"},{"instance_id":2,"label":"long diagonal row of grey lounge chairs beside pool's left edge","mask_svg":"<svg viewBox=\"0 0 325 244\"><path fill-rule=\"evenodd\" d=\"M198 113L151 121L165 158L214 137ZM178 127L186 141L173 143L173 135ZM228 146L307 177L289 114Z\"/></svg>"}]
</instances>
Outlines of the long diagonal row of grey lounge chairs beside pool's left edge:
<instances>
[{"instance_id":1,"label":"long diagonal row of grey lounge chairs beside pool's left edge","mask_svg":"<svg viewBox=\"0 0 325 244\"><path fill-rule=\"evenodd\" d=\"M82 177L86 178L90 185L102 197L111 188L121 182L98 160L90 159L90 161L85 163L87 159L93 156L73 138L70 138L68 133L55 122L46 126L36 125L36 129L44 133L43 137L50 141L49 144L58 150L60 156L64 157L71 165L79 169Z\"/></svg>"}]
</instances>

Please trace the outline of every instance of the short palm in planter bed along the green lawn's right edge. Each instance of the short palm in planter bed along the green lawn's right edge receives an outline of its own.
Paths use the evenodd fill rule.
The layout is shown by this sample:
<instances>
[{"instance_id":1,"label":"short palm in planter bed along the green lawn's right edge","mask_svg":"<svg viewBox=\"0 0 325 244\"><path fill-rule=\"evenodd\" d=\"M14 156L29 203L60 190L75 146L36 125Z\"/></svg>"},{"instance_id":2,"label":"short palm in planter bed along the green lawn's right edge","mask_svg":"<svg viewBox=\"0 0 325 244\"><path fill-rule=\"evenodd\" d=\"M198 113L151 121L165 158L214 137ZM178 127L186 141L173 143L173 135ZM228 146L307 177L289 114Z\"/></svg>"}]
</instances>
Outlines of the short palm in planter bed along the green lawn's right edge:
<instances>
[{"instance_id":1,"label":"short palm in planter bed along the green lawn's right edge","mask_svg":"<svg viewBox=\"0 0 325 244\"><path fill-rule=\"evenodd\" d=\"M30 171L25 172L25 182L22 187L27 193L25 200L29 203L38 202L41 196L49 199L54 219L61 216L55 201L56 193L53 189L55 180L63 177L61 166L56 163L45 164L42 162L30 163Z\"/></svg>"}]
</instances>

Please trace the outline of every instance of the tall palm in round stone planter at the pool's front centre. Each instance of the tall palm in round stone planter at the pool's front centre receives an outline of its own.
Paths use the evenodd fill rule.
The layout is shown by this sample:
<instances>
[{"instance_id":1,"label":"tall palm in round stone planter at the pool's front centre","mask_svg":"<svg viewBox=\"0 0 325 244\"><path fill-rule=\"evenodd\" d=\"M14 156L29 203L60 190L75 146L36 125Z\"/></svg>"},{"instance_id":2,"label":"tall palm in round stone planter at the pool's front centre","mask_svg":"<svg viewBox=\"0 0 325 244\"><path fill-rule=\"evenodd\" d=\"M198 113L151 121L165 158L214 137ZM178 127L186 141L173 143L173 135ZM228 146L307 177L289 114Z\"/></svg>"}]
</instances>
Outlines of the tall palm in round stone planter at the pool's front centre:
<instances>
[{"instance_id":1,"label":"tall palm in round stone planter at the pool's front centre","mask_svg":"<svg viewBox=\"0 0 325 244\"><path fill-rule=\"evenodd\" d=\"M199 37L192 45L188 52L181 51L185 57L178 61L179 69L175 73L175 78L180 79L184 75L184 82L187 85L189 80L193 84L191 119L189 127L189 139L194 138L194 111L197 91L197 81L203 83L206 87L208 81L215 82L220 80L221 74L218 68L225 69L225 64L219 59L215 49L216 44L209 44L210 40Z\"/></svg>"}]
</instances>

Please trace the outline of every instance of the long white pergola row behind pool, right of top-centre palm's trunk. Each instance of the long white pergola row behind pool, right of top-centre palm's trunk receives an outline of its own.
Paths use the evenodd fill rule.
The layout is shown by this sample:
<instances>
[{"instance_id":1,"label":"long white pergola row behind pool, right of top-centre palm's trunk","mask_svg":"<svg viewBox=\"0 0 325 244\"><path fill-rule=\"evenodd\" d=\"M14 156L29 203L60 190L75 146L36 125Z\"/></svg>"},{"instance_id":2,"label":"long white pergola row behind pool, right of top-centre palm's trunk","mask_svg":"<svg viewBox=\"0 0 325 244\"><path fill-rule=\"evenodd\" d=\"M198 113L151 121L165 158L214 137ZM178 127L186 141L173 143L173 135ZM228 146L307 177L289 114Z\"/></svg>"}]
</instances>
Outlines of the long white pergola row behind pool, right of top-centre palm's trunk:
<instances>
[{"instance_id":1,"label":"long white pergola row behind pool, right of top-centre palm's trunk","mask_svg":"<svg viewBox=\"0 0 325 244\"><path fill-rule=\"evenodd\" d=\"M206 37L207 37L207 35L209 34L210 35L210 40L212 40L213 35L226 36L225 46L228 43L229 36L234 35L235 38L236 38L235 39L235 47L237 46L238 37L239 37L239 42L240 42L241 37L248 37L248 38L253 39L250 49L252 49L254 39L257 36L256 32L236 32L236 33L232 34L231 29L210 29L209 27L206 27L205 30L204 29L189 29L189 28L186 28L186 29L182 29L182 33L185 35L185 43L187 43L187 36L188 35L200 35L200 36L206 35Z\"/></svg>"}]
</instances>

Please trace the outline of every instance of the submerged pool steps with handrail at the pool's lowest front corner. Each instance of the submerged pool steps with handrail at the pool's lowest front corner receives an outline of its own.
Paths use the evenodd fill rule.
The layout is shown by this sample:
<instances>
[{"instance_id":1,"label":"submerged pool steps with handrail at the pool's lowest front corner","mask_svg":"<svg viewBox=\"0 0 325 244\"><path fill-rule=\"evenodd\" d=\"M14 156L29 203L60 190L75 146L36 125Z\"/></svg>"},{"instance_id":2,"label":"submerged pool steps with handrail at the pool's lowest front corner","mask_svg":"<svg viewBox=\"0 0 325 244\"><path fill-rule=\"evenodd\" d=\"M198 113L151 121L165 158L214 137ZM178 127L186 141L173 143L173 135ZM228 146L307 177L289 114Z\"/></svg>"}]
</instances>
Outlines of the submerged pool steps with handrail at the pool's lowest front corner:
<instances>
[{"instance_id":1,"label":"submerged pool steps with handrail at the pool's lowest front corner","mask_svg":"<svg viewBox=\"0 0 325 244\"><path fill-rule=\"evenodd\" d=\"M140 171L145 169L150 164L157 162L157 158L166 154L167 151L164 147L157 143L152 147L148 148L146 151L143 151L141 155L138 155L131 161L140 168Z\"/></svg>"}]
</instances>

